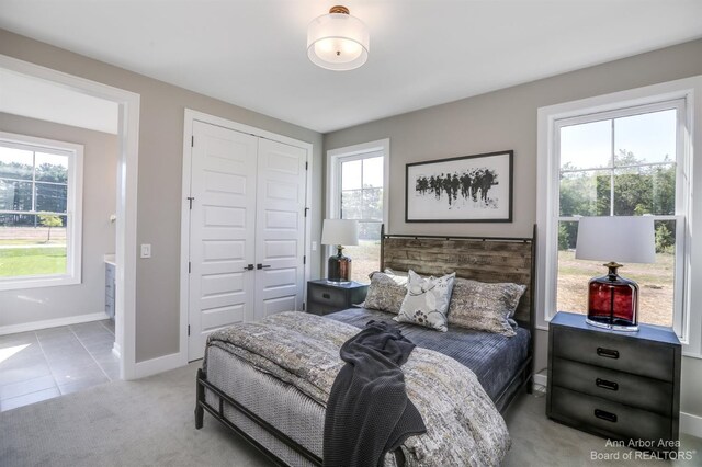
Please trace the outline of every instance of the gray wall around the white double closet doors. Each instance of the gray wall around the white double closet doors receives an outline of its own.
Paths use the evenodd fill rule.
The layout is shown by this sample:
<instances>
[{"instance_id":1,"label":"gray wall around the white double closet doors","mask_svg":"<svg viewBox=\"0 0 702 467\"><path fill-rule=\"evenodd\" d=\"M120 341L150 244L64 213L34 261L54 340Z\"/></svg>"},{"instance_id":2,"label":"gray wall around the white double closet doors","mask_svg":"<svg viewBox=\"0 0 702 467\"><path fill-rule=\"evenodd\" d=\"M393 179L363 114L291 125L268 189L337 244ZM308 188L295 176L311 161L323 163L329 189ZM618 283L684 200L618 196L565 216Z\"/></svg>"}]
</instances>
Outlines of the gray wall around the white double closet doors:
<instances>
[{"instance_id":1,"label":"gray wall around the white double closet doors","mask_svg":"<svg viewBox=\"0 0 702 467\"><path fill-rule=\"evenodd\" d=\"M141 75L0 30L0 54L114 86L141 96L137 243L151 243L152 258L137 260L136 360L179 351L180 207L183 112L193 109L314 145L313 231L321 229L321 143L319 133L206 98ZM319 276L319 251L310 261Z\"/></svg>"}]
</instances>

